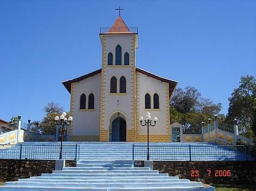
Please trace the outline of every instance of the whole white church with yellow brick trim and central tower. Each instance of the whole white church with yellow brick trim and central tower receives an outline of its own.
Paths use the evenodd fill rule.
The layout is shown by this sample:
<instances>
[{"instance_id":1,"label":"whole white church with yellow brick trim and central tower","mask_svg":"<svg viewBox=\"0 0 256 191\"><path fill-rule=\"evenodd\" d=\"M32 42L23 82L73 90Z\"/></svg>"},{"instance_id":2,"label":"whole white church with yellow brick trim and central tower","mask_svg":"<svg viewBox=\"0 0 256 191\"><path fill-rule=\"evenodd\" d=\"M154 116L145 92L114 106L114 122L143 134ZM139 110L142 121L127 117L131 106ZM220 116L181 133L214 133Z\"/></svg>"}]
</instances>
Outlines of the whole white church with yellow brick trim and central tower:
<instances>
[{"instance_id":1,"label":"whole white church with yellow brick trim and central tower","mask_svg":"<svg viewBox=\"0 0 256 191\"><path fill-rule=\"evenodd\" d=\"M70 93L70 141L146 141L139 117L157 117L150 141L168 142L169 99L178 82L136 67L138 29L119 16L100 29L101 69L62 82ZM161 66L160 66L161 67Z\"/></svg>"}]
</instances>

